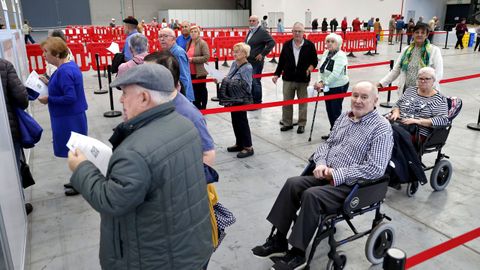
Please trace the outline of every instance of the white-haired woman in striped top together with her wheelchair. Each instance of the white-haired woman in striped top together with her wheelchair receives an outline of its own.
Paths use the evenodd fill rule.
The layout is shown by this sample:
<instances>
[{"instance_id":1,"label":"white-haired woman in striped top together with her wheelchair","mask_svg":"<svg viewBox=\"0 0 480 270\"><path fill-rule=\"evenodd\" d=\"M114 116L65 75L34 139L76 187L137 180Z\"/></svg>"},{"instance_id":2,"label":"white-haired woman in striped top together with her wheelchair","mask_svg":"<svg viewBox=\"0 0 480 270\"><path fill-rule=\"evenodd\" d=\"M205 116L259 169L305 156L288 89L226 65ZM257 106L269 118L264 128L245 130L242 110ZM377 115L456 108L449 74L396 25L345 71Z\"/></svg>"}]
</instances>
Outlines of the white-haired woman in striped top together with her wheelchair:
<instances>
[{"instance_id":1,"label":"white-haired woman in striped top together with her wheelchair","mask_svg":"<svg viewBox=\"0 0 480 270\"><path fill-rule=\"evenodd\" d=\"M417 177L405 177L409 178L405 180L409 183L407 187L408 196L412 196L417 191L418 182L422 184L427 182L424 173L423 176L419 175L418 168L420 170L433 169L430 184L434 190L443 190L451 177L451 164L447 160L442 160L445 157L448 158L448 156L442 154L441 150L447 140L451 121L460 112L462 102L458 98L442 95L434 88L435 81L435 70L433 68L421 68L418 71L417 86L407 88L390 114L387 115L387 118L392 121L395 145L398 144L396 133L402 134L401 130L398 130L398 127L401 127L408 131L407 136L410 136L410 138L406 141L413 143L413 149L418 157L418 159L415 157L408 161L409 166L416 167L415 170L417 171L415 174ZM405 135L402 134L401 136ZM397 156L396 148L394 148L392 160ZM407 148L409 148L408 145L398 147L398 151L405 152ZM421 158L423 154L431 152L438 152L437 159L434 166L427 167L421 162ZM396 171L398 172L398 169ZM401 172L399 173L401 174ZM396 182L395 177L392 180L392 182ZM400 179L398 182L403 183L405 181ZM398 185L397 188L399 188Z\"/></svg>"}]
</instances>

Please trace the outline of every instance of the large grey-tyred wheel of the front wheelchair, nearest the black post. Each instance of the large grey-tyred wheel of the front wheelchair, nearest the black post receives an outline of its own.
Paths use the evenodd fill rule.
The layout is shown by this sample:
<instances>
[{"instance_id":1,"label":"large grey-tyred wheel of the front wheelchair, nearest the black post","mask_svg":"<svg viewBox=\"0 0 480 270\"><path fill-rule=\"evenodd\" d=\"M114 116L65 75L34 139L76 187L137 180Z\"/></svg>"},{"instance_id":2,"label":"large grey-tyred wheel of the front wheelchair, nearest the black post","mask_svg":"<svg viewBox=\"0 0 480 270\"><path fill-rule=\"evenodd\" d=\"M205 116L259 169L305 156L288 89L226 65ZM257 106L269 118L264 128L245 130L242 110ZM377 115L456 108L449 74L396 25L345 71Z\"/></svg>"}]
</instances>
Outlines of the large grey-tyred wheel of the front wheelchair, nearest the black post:
<instances>
[{"instance_id":1,"label":"large grey-tyred wheel of the front wheelchair, nearest the black post","mask_svg":"<svg viewBox=\"0 0 480 270\"><path fill-rule=\"evenodd\" d=\"M395 245L395 230L389 223L382 222L373 228L365 244L365 256L372 264L380 264L387 250Z\"/></svg>"}]
</instances>

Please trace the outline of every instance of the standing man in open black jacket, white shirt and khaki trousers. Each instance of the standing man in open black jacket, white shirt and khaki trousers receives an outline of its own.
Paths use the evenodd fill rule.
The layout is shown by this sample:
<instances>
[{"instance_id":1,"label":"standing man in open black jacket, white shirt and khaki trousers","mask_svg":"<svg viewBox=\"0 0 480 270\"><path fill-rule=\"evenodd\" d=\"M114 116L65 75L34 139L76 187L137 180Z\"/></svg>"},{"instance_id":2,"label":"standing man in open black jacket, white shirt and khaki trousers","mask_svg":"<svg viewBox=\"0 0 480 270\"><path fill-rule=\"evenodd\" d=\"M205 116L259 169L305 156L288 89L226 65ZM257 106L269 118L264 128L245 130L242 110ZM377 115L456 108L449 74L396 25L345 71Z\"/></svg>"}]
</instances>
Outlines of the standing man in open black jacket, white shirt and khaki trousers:
<instances>
[{"instance_id":1,"label":"standing man in open black jacket, white shirt and khaki trousers","mask_svg":"<svg viewBox=\"0 0 480 270\"><path fill-rule=\"evenodd\" d=\"M293 25L293 39L283 44L280 59L272 78L273 83L277 83L282 75L283 79L283 100L292 100L297 93L297 98L307 98L307 86L310 82L310 74L318 64L317 50L315 45L305 39L303 34L305 28L302 23L296 22ZM298 129L297 133L305 132L307 124L308 104L298 104ZM293 129L293 105L282 107L283 127L280 131Z\"/></svg>"}]
</instances>

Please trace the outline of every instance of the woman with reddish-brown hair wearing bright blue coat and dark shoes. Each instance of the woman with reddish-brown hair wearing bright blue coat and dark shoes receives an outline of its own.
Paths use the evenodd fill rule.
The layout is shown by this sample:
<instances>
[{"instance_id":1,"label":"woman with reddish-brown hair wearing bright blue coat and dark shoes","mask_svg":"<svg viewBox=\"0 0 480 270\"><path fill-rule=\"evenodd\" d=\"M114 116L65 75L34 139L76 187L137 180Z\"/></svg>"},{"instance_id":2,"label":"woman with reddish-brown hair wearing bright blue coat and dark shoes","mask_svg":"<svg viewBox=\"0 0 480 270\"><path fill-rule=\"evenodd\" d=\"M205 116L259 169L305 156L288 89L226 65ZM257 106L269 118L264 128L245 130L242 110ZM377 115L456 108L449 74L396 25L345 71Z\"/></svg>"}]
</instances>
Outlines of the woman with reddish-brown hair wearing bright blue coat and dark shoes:
<instances>
[{"instance_id":1,"label":"woman with reddish-brown hair wearing bright blue coat and dark shoes","mask_svg":"<svg viewBox=\"0 0 480 270\"><path fill-rule=\"evenodd\" d=\"M48 104L52 126L53 153L56 157L68 157L66 146L71 131L87 135L88 108L83 89L82 72L77 64L68 58L69 50L65 42L58 37L49 37L41 44L48 63L57 67L48 84L48 96L39 97L42 104ZM64 185L65 195L78 192L70 184Z\"/></svg>"}]
</instances>

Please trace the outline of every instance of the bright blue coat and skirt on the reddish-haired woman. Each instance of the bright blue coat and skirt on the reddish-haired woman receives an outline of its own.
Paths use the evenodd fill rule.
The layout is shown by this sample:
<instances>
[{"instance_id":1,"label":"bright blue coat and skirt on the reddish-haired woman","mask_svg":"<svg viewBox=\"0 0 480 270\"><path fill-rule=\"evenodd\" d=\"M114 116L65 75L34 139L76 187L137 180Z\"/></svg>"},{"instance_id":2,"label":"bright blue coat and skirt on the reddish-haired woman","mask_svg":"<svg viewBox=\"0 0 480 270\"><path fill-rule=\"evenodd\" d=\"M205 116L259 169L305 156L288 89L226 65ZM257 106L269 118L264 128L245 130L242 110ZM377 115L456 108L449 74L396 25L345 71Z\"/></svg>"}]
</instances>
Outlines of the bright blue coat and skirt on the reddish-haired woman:
<instances>
[{"instance_id":1,"label":"bright blue coat and skirt on the reddish-haired woman","mask_svg":"<svg viewBox=\"0 0 480 270\"><path fill-rule=\"evenodd\" d=\"M61 65L48 82L48 110L55 156L67 157L66 143L71 131L87 135L87 109L82 72L73 61Z\"/></svg>"}]
</instances>

